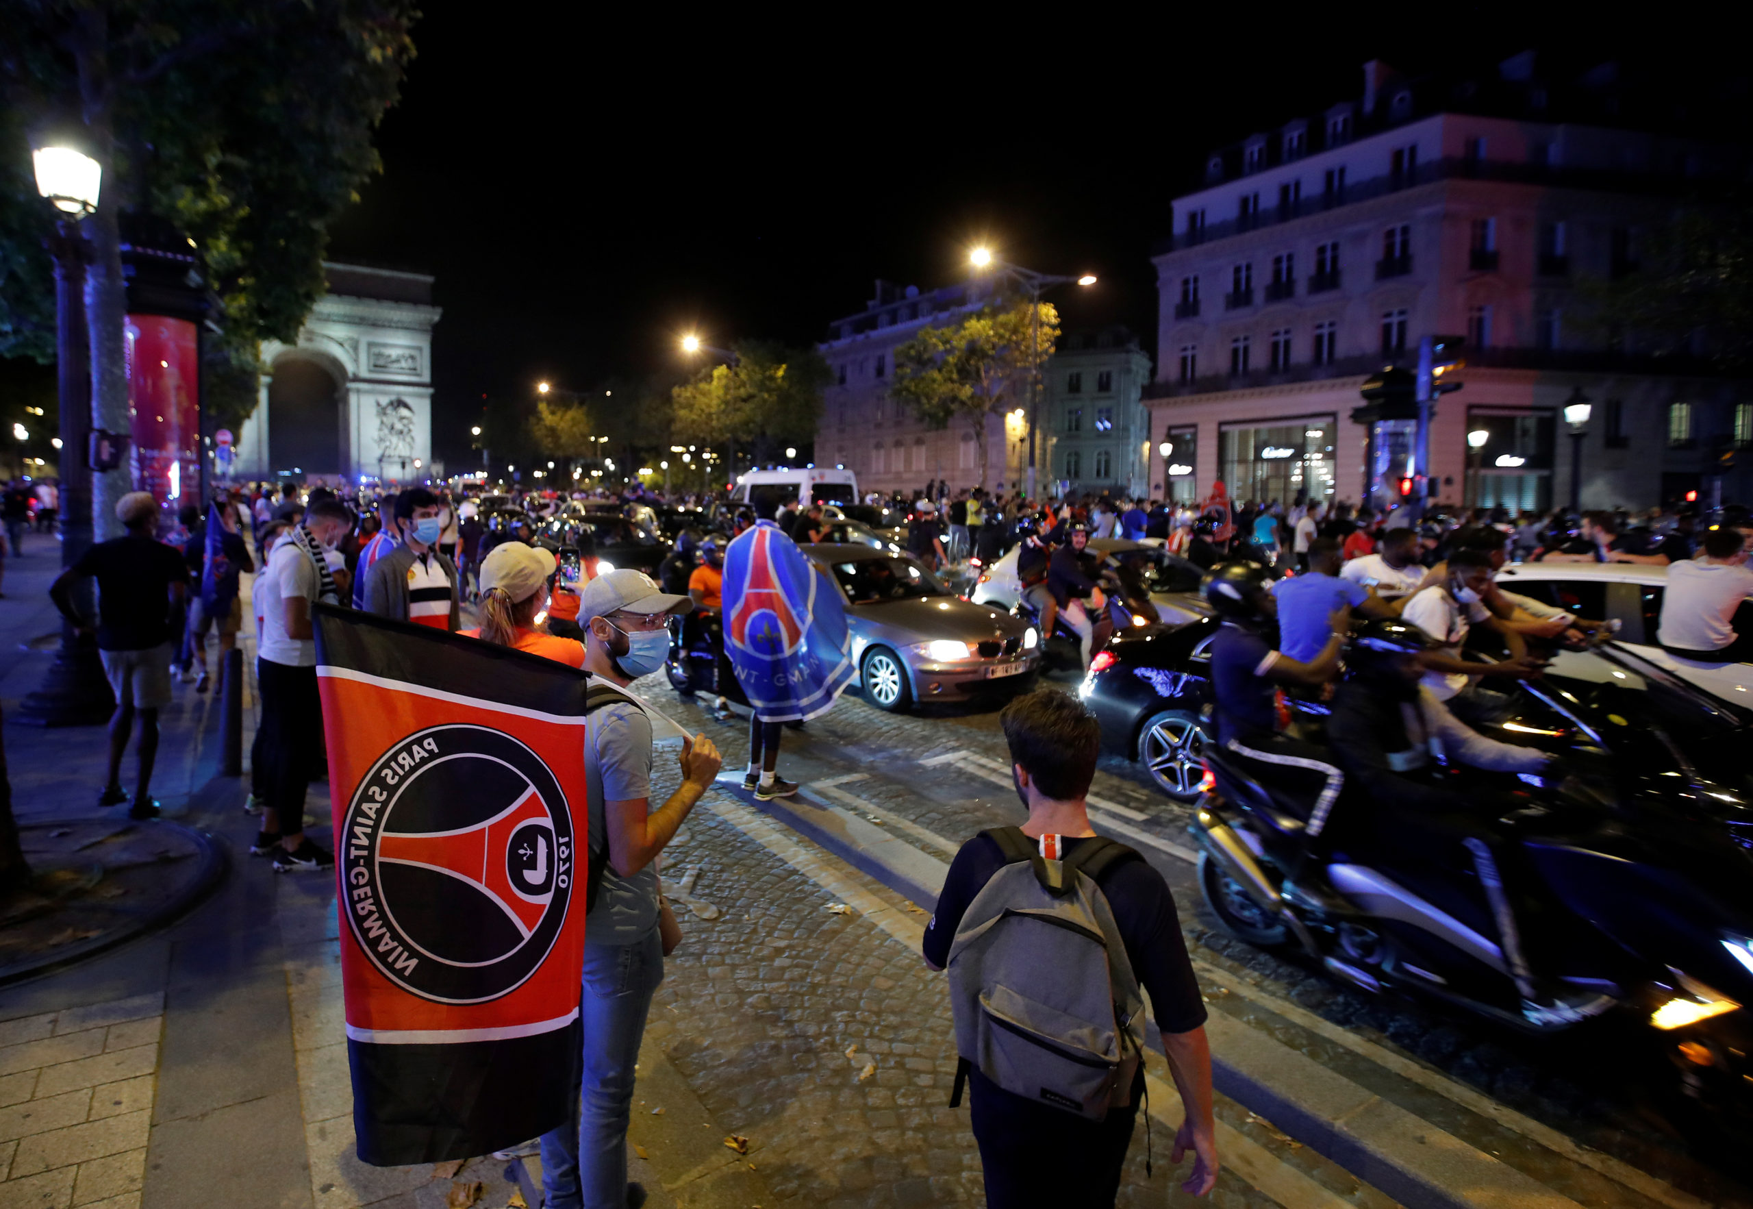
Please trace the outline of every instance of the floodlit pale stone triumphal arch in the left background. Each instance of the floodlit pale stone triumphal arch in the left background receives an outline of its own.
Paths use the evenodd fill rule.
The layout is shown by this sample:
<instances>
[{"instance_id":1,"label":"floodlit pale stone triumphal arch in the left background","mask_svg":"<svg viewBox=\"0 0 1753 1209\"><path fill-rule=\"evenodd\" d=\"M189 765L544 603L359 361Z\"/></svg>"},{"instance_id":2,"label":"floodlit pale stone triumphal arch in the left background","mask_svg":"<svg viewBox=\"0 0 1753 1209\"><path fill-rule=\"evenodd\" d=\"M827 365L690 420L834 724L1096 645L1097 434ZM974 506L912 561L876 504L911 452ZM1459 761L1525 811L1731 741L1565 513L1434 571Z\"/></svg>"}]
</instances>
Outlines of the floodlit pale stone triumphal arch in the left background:
<instances>
[{"instance_id":1,"label":"floodlit pale stone triumphal arch in the left background","mask_svg":"<svg viewBox=\"0 0 1753 1209\"><path fill-rule=\"evenodd\" d=\"M261 402L237 440L235 477L412 483L431 474L426 274L324 263L296 344L261 346Z\"/></svg>"}]
</instances>

